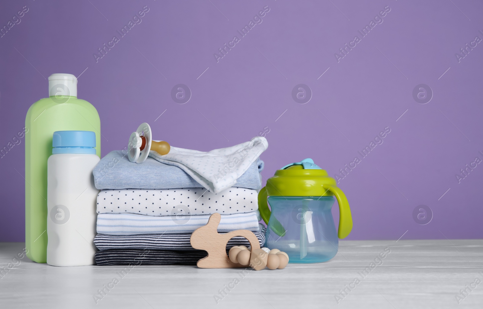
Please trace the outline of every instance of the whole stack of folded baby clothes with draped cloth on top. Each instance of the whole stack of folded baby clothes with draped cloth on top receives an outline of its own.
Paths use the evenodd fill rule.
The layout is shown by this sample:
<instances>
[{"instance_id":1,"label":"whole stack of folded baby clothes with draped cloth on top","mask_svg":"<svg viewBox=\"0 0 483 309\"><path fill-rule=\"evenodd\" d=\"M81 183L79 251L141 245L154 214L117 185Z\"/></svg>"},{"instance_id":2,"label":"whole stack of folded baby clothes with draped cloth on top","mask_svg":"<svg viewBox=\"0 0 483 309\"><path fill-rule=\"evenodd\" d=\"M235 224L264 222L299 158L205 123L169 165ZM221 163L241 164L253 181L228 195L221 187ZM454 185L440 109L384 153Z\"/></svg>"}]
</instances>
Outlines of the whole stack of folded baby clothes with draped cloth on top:
<instances>
[{"instance_id":1,"label":"whole stack of folded baby clothes with draped cloth on top","mask_svg":"<svg viewBox=\"0 0 483 309\"><path fill-rule=\"evenodd\" d=\"M218 233L245 229L265 242L259 224L258 191L268 147L256 137L233 147L201 152L171 147L167 155L151 151L141 164L126 151L112 151L94 168L98 265L196 265L207 255L190 245L191 234L220 213ZM250 246L237 236L233 246Z\"/></svg>"}]
</instances>

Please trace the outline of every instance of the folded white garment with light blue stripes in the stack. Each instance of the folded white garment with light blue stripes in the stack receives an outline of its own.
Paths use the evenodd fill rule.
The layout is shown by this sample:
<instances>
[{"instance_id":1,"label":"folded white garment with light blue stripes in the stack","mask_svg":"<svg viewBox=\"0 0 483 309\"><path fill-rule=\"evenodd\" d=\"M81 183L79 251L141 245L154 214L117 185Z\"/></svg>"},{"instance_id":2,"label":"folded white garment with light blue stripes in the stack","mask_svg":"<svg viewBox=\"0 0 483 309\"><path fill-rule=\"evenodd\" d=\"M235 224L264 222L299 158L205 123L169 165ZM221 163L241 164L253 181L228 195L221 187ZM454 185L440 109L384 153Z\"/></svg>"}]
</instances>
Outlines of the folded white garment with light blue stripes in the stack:
<instances>
[{"instance_id":1,"label":"folded white garment with light blue stripes in the stack","mask_svg":"<svg viewBox=\"0 0 483 309\"><path fill-rule=\"evenodd\" d=\"M210 215L154 217L140 214L98 214L97 233L106 235L193 233L206 225ZM256 212L221 215L218 232L258 231Z\"/></svg>"}]
</instances>

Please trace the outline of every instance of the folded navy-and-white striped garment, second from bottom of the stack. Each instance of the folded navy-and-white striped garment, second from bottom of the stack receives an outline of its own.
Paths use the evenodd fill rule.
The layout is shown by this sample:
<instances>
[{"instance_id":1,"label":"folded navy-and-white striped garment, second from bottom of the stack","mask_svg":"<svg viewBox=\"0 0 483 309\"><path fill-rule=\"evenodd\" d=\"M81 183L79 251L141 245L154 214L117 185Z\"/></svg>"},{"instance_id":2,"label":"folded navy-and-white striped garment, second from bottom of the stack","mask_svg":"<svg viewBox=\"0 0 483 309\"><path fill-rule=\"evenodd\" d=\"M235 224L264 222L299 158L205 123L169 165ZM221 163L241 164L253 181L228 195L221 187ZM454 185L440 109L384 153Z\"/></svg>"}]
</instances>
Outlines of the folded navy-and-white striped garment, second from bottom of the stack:
<instances>
[{"instance_id":1,"label":"folded navy-and-white striped garment, second from bottom of the stack","mask_svg":"<svg viewBox=\"0 0 483 309\"><path fill-rule=\"evenodd\" d=\"M260 242L265 244L265 225L258 223L258 231L253 232ZM224 234L224 233L220 233ZM190 244L191 233L186 234L143 234L130 236L98 234L94 244L99 250L109 249L156 249L156 250L195 250ZM227 249L233 246L249 247L245 237L235 236L228 240Z\"/></svg>"}]
</instances>

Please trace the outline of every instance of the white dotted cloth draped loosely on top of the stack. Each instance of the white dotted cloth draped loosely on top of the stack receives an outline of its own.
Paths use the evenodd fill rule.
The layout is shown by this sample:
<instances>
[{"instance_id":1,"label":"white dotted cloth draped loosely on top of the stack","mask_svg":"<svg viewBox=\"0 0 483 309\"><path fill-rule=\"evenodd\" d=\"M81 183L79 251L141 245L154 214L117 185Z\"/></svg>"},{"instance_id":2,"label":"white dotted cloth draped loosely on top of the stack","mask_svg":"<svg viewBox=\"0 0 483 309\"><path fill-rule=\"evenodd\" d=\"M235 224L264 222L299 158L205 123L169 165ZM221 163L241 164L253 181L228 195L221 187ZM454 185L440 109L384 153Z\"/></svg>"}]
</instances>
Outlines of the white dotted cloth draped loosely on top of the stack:
<instances>
[{"instance_id":1,"label":"white dotted cloth draped loosely on top of the stack","mask_svg":"<svg viewBox=\"0 0 483 309\"><path fill-rule=\"evenodd\" d=\"M208 152L171 147L166 155L150 151L159 162L178 166L204 188L219 193L237 183L260 154L268 148L267 139L256 136L249 142Z\"/></svg>"}]
</instances>

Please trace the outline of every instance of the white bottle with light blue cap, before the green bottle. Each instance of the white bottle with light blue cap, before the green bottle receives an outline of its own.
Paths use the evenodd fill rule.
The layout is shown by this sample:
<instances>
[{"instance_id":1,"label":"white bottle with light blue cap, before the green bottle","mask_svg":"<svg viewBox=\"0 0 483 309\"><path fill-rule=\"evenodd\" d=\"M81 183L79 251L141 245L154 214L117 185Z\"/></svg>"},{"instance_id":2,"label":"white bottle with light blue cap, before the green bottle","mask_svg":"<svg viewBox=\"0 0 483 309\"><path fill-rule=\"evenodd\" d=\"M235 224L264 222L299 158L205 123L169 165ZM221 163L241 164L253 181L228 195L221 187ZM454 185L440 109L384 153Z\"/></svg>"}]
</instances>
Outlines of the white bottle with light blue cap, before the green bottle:
<instances>
[{"instance_id":1,"label":"white bottle with light blue cap, before the green bottle","mask_svg":"<svg viewBox=\"0 0 483 309\"><path fill-rule=\"evenodd\" d=\"M96 199L92 170L96 133L56 131L47 160L47 264L93 265Z\"/></svg>"}]
</instances>

